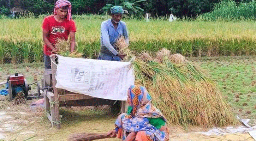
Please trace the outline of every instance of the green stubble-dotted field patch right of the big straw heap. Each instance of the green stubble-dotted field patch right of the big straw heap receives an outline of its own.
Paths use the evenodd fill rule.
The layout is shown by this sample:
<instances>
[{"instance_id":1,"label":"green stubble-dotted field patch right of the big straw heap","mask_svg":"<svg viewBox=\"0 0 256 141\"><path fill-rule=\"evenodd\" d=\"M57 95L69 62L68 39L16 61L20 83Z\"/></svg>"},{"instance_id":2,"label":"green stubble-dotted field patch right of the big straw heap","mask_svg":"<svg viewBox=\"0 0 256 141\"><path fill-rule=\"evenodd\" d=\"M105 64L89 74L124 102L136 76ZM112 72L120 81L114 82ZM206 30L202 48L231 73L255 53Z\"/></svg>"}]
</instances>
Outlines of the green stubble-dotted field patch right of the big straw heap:
<instances>
[{"instance_id":1,"label":"green stubble-dotted field patch right of the big straw heap","mask_svg":"<svg viewBox=\"0 0 256 141\"><path fill-rule=\"evenodd\" d=\"M256 56L193 59L217 82L233 112L256 119Z\"/></svg>"}]
</instances>

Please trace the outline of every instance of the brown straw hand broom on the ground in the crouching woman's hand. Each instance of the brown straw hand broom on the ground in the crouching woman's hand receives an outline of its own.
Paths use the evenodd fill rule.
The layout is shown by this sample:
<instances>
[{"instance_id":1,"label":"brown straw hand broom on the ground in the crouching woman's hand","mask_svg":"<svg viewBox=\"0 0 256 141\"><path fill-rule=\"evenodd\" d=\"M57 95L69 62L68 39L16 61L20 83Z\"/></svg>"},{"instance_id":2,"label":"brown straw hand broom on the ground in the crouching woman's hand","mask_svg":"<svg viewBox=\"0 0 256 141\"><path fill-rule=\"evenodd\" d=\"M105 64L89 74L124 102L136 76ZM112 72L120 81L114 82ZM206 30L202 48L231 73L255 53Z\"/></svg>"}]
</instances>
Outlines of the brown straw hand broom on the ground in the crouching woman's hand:
<instances>
[{"instance_id":1,"label":"brown straw hand broom on the ground in the crouching woman's hand","mask_svg":"<svg viewBox=\"0 0 256 141\"><path fill-rule=\"evenodd\" d=\"M109 138L107 134L99 133L75 133L69 136L69 141L92 141Z\"/></svg>"}]
</instances>

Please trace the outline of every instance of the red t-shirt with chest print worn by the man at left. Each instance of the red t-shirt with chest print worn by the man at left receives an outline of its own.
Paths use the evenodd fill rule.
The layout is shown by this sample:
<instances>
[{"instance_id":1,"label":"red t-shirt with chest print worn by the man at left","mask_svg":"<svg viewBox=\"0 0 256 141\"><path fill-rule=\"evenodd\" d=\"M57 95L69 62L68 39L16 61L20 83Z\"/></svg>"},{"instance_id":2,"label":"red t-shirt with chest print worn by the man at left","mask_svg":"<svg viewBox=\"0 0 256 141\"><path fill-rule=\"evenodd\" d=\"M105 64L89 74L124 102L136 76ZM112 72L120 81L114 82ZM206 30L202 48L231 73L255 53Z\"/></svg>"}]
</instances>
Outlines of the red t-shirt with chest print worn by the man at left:
<instances>
[{"instance_id":1,"label":"red t-shirt with chest print worn by the man at left","mask_svg":"<svg viewBox=\"0 0 256 141\"><path fill-rule=\"evenodd\" d=\"M76 24L73 20L69 21L67 19L59 23L52 15L44 18L42 29L48 31L48 39L50 43L55 46L57 38L67 40L69 37L69 32L76 32ZM52 54L52 49L45 44L43 47L43 52L45 55L49 56Z\"/></svg>"}]
</instances>

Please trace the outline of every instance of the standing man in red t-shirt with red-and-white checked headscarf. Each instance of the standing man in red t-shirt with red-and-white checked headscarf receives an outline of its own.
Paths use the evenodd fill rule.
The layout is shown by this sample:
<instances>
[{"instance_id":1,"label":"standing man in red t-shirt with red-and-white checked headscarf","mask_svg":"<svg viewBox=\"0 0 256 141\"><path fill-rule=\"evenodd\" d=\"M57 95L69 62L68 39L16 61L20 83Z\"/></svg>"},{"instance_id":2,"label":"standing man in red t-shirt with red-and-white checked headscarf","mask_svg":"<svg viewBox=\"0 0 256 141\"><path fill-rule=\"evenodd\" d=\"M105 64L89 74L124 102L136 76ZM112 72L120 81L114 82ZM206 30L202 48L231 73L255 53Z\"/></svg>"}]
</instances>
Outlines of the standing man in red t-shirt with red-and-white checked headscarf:
<instances>
[{"instance_id":1,"label":"standing man in red t-shirt with red-and-white checked headscarf","mask_svg":"<svg viewBox=\"0 0 256 141\"><path fill-rule=\"evenodd\" d=\"M67 0L56 1L54 15L44 18L42 29L44 67L51 69L49 55L55 51L54 47L58 38L67 40L70 35L70 52L75 50L76 25L71 17L71 3Z\"/></svg>"}]
</instances>

